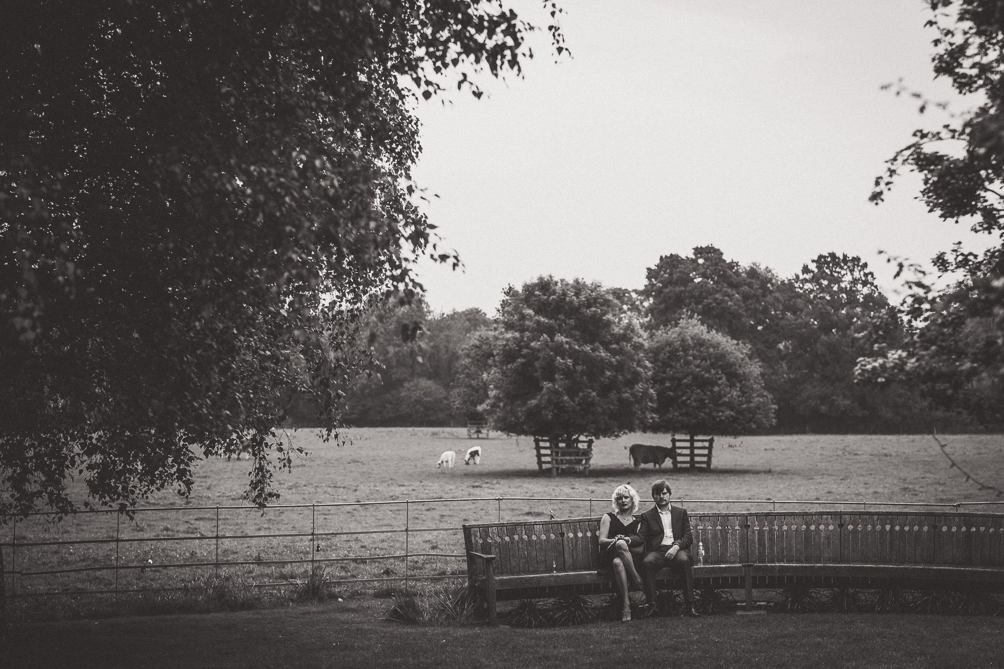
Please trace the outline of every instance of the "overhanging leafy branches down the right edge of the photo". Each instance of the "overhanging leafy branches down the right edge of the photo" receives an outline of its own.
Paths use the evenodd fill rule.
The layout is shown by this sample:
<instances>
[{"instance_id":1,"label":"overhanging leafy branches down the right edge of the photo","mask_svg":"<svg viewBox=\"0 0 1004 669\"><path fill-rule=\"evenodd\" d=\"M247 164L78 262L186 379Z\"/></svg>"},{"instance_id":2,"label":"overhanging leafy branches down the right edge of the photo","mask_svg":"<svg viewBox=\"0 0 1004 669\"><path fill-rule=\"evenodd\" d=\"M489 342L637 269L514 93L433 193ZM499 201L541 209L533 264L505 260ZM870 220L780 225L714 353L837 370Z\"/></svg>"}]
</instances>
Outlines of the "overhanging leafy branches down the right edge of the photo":
<instances>
[{"instance_id":1,"label":"overhanging leafy branches down the right edge of the photo","mask_svg":"<svg viewBox=\"0 0 1004 669\"><path fill-rule=\"evenodd\" d=\"M1004 9L999 0L928 0L937 31L933 56L936 76L951 80L975 106L953 115L938 130L920 129L914 141L889 161L875 179L871 200L883 201L903 170L921 175L921 199L931 212L956 223L966 220L974 232L994 241L982 255L961 244L934 258L939 274L961 276L944 290L934 290L926 273L909 279L914 289L908 312L921 327L902 350L876 352L866 366L874 378L904 378L907 372L932 387L932 399L975 413L1000 425L1004 398ZM901 88L897 94L905 92ZM921 93L920 112L930 102ZM900 261L900 272L910 267ZM915 267L916 268L916 267ZM898 274L899 275L899 274ZM899 355L900 351L903 355ZM896 354L896 355L894 355ZM903 359L897 361L897 358ZM893 375L885 372L890 370ZM867 370L865 370L867 371ZM995 410L996 409L996 410Z\"/></svg>"}]
</instances>

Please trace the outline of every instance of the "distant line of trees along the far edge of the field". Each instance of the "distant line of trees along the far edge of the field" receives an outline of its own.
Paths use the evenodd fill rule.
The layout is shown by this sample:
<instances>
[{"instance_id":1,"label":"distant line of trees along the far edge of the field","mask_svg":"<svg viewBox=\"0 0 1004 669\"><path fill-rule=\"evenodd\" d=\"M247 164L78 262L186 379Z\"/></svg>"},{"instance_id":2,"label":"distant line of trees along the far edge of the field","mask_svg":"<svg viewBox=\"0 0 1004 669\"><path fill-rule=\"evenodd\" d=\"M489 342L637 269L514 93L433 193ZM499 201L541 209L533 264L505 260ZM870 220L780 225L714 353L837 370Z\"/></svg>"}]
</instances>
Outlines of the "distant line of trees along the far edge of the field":
<instances>
[{"instance_id":1,"label":"distant line of trees along the far edge of the field","mask_svg":"<svg viewBox=\"0 0 1004 669\"><path fill-rule=\"evenodd\" d=\"M820 255L781 278L705 246L660 258L641 290L608 290L652 334L696 318L745 345L776 406L770 432L986 431L1004 424L999 377L956 364L999 341L1000 323L965 314L912 321L856 256ZM465 396L470 379L462 377L471 373L465 355L477 348L477 332L492 325L476 308L434 313L421 296L374 309L366 332L382 368L348 394L346 423L448 426L481 418ZM918 356L911 348L918 342L935 344ZM309 423L308 407L293 411L299 424Z\"/></svg>"}]
</instances>

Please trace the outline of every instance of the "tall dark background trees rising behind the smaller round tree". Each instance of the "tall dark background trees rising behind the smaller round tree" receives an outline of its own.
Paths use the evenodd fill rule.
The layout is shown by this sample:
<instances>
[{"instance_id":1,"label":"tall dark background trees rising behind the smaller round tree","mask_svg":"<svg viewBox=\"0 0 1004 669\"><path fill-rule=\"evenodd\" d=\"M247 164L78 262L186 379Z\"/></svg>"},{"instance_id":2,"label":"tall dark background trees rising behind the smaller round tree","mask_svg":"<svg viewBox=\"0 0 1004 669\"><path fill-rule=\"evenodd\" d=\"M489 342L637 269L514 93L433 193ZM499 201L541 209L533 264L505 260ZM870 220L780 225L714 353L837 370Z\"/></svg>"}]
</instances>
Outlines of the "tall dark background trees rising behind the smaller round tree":
<instances>
[{"instance_id":1,"label":"tall dark background trees rising behind the smaller round tree","mask_svg":"<svg viewBox=\"0 0 1004 669\"><path fill-rule=\"evenodd\" d=\"M696 317L749 347L783 431L901 431L965 423L933 412L916 383L855 383L855 366L909 339L898 310L856 256L821 254L790 278L743 267L713 246L664 256L643 291L651 329Z\"/></svg>"}]
</instances>

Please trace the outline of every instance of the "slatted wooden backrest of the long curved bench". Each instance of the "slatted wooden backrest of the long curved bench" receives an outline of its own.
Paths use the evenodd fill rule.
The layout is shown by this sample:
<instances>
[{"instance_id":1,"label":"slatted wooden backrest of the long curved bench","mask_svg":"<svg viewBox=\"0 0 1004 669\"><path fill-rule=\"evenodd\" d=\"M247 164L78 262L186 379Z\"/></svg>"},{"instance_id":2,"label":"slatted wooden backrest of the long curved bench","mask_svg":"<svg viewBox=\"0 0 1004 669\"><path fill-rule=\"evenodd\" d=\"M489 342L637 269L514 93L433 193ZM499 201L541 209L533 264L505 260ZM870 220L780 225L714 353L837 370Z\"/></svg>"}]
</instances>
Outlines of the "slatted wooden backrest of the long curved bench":
<instances>
[{"instance_id":1,"label":"slatted wooden backrest of the long curved bench","mask_svg":"<svg viewBox=\"0 0 1004 669\"><path fill-rule=\"evenodd\" d=\"M1004 567L1004 514L749 512L690 514L705 565L825 563ZM464 525L468 550L496 555L494 572L601 569L599 518ZM476 569L468 561L469 573Z\"/></svg>"}]
</instances>

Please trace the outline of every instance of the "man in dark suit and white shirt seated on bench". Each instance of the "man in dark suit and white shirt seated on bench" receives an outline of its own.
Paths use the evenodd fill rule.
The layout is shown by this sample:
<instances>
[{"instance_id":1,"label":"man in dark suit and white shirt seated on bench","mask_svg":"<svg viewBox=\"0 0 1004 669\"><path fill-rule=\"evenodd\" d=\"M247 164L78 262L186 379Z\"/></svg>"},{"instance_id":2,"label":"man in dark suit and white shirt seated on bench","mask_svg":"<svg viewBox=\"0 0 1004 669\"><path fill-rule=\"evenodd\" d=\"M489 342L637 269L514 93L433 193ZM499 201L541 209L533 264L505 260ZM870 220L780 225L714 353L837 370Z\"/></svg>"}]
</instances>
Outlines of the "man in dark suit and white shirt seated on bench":
<instances>
[{"instance_id":1,"label":"man in dark suit and white shirt seated on bench","mask_svg":"<svg viewBox=\"0 0 1004 669\"><path fill-rule=\"evenodd\" d=\"M645 542L642 560L642 581L650 607L656 604L656 575L669 567L684 576L684 615L696 617L694 611L694 562L691 560L690 517L687 509L670 504L670 484L658 480L652 484L652 499L656 505L642 514L638 534Z\"/></svg>"}]
</instances>

